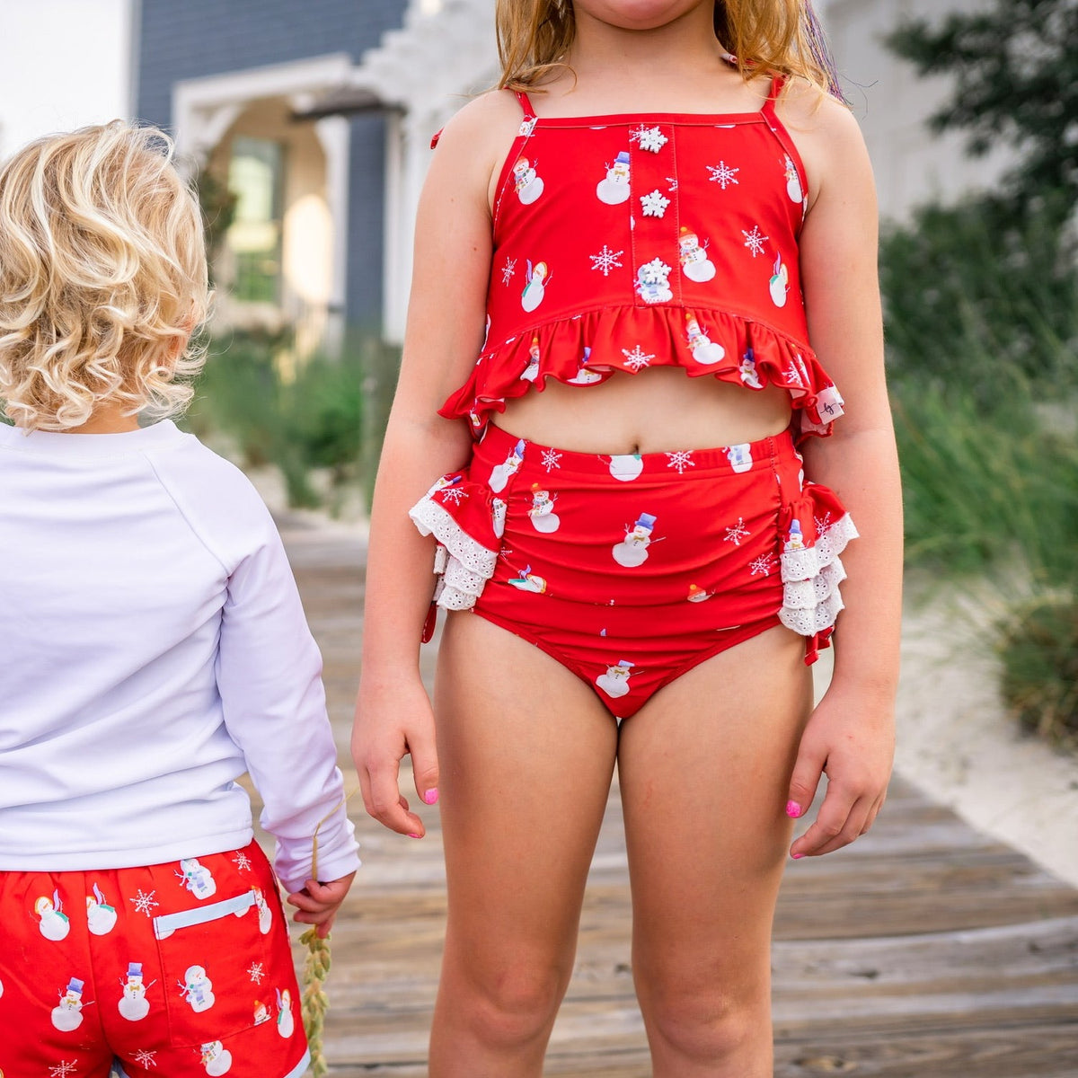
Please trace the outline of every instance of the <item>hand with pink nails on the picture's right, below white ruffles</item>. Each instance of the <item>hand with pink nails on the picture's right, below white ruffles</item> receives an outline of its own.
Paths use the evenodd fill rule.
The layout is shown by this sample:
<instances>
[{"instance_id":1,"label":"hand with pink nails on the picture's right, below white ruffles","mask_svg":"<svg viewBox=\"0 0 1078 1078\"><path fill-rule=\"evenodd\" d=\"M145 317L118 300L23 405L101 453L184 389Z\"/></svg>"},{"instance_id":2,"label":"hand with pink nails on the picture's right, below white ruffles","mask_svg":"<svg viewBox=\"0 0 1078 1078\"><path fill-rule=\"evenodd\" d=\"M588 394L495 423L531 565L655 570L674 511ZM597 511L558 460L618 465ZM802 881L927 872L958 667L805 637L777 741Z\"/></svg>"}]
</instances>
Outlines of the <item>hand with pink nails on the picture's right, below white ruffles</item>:
<instances>
[{"instance_id":1,"label":"hand with pink nails on the picture's right, below white ruffles","mask_svg":"<svg viewBox=\"0 0 1078 1078\"><path fill-rule=\"evenodd\" d=\"M841 849L875 821L895 755L890 696L832 685L813 711L793 765L787 815L804 815L825 774L827 793L815 823L790 846L794 860Z\"/></svg>"}]
</instances>

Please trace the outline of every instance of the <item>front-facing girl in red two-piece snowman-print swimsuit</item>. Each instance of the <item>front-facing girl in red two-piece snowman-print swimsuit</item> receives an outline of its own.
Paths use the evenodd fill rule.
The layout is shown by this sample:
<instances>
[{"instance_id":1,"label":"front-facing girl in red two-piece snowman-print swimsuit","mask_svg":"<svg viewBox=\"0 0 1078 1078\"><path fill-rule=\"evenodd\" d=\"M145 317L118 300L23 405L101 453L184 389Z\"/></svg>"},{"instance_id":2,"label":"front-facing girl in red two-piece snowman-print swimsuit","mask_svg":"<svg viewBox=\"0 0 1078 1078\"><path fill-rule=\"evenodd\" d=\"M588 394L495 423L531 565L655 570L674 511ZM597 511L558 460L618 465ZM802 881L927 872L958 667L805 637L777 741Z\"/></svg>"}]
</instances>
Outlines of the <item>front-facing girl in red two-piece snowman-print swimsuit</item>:
<instances>
[{"instance_id":1,"label":"front-facing girl in red two-piece snowman-print swimsuit","mask_svg":"<svg viewBox=\"0 0 1078 1078\"><path fill-rule=\"evenodd\" d=\"M419 209L354 740L387 827L423 834L405 752L441 793L430 1074L541 1073L617 764L653 1073L764 1078L786 854L862 834L892 760L867 154L802 0L499 0L498 29L508 88L447 125ZM455 611L433 708L419 533Z\"/></svg>"}]
</instances>

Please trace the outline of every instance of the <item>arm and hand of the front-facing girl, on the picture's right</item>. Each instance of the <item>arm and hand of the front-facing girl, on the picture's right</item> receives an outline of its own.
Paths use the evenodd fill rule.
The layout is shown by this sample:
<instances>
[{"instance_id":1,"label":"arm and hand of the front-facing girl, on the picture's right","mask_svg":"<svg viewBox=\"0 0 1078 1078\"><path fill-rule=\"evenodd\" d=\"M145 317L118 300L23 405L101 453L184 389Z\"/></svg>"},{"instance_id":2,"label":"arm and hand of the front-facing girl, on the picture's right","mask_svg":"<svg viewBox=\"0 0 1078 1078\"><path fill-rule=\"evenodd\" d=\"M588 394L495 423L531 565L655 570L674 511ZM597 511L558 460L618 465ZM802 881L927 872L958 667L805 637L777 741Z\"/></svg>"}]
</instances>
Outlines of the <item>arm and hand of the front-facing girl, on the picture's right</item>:
<instances>
[{"instance_id":1,"label":"arm and hand of the front-facing girl, on the picture's right","mask_svg":"<svg viewBox=\"0 0 1078 1078\"><path fill-rule=\"evenodd\" d=\"M834 676L808 721L790 787L790 800L804 812L826 773L827 797L793 843L794 857L853 842L883 804L894 755L902 558L871 166L853 115L830 98L814 112L804 96L790 106L803 113L790 126L807 133L804 155L817 188L801 236L810 338L846 405L830 438L811 438L803 447L805 472L839 494L860 538L843 553L849 576Z\"/></svg>"}]
</instances>

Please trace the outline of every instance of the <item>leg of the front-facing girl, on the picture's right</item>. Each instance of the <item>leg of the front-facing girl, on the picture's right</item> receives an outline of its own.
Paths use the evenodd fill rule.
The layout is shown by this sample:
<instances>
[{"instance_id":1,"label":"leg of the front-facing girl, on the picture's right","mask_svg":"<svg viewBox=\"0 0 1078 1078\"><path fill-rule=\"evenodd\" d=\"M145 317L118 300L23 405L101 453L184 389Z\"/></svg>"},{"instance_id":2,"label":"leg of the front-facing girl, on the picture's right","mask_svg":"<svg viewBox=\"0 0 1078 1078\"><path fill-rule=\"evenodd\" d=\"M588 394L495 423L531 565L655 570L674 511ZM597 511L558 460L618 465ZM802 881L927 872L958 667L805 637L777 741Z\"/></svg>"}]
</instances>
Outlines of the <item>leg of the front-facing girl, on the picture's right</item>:
<instances>
[{"instance_id":1,"label":"leg of the front-facing girl, on the picture's right","mask_svg":"<svg viewBox=\"0 0 1078 1078\"><path fill-rule=\"evenodd\" d=\"M689 671L622 724L633 973L654 1078L771 1078L771 925L787 786L811 704L777 627Z\"/></svg>"}]
</instances>

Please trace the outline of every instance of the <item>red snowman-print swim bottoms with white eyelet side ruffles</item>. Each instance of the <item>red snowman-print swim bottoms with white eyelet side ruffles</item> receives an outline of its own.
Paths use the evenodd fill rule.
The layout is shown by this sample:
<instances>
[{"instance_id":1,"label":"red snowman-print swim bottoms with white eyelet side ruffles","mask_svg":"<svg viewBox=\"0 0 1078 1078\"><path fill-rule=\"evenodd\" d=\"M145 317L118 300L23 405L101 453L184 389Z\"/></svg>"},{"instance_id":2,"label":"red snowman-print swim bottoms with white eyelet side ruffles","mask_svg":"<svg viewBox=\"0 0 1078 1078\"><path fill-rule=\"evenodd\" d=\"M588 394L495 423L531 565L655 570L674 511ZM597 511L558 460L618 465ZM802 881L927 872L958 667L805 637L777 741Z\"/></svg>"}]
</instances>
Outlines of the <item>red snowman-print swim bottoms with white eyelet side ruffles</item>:
<instances>
[{"instance_id":1,"label":"red snowman-print swim bottoms with white eyelet side ruffles","mask_svg":"<svg viewBox=\"0 0 1078 1078\"><path fill-rule=\"evenodd\" d=\"M803 634L813 662L857 535L786 433L605 456L492 426L411 515L438 539L438 605L530 640L619 718L774 625Z\"/></svg>"}]
</instances>

